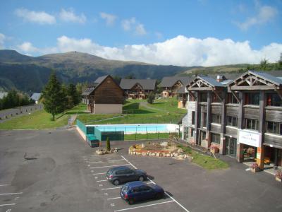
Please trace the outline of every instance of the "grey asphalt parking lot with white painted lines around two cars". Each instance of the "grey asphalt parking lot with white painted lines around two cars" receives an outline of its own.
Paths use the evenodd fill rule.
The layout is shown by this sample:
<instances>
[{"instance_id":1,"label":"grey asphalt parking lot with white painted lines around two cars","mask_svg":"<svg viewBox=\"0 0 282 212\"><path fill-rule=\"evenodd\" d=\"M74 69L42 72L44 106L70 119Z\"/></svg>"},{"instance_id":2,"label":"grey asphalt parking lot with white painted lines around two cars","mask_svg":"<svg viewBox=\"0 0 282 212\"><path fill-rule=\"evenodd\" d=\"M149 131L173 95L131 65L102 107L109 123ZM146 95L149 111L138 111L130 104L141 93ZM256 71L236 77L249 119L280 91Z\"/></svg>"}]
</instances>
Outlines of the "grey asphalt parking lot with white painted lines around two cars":
<instances>
[{"instance_id":1,"label":"grey asphalt parking lot with white painted lines around two cars","mask_svg":"<svg viewBox=\"0 0 282 212\"><path fill-rule=\"evenodd\" d=\"M0 211L282 211L282 186L265 172L245 171L233 158L207 171L188 160L128 155L128 142L95 155L77 131L0 131ZM26 160L29 159L29 160ZM128 205L105 179L117 165L145 170L163 199Z\"/></svg>"}]
</instances>

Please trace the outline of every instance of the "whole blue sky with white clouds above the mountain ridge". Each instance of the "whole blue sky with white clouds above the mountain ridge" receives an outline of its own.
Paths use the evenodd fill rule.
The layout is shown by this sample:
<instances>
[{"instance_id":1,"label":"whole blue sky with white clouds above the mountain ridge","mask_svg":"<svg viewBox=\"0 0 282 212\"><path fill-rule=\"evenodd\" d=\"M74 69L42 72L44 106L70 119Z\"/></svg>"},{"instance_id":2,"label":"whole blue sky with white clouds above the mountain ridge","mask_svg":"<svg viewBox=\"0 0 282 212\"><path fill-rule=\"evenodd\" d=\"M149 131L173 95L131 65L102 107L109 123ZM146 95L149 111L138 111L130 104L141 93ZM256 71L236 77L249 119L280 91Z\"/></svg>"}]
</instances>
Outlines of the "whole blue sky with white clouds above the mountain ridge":
<instances>
[{"instance_id":1,"label":"whole blue sky with white clouds above the mountain ridge","mask_svg":"<svg viewBox=\"0 0 282 212\"><path fill-rule=\"evenodd\" d=\"M1 1L0 49L177 66L275 62L282 0Z\"/></svg>"}]
</instances>

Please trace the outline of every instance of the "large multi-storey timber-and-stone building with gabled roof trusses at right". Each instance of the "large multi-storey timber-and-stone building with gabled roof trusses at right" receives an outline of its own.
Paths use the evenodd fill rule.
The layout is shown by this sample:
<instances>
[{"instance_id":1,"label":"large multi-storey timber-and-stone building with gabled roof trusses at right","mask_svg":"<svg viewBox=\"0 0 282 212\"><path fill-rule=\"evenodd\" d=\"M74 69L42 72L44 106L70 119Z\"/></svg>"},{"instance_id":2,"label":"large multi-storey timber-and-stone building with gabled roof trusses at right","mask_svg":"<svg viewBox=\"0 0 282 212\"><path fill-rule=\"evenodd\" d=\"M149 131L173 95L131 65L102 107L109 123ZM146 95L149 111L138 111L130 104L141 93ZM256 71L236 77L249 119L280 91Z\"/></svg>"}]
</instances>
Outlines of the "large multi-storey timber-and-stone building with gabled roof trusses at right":
<instances>
[{"instance_id":1,"label":"large multi-storey timber-and-stone building with gabled roof trusses at right","mask_svg":"<svg viewBox=\"0 0 282 212\"><path fill-rule=\"evenodd\" d=\"M247 71L233 81L197 76L188 93L184 139L238 161L282 165L282 79Z\"/></svg>"}]
</instances>

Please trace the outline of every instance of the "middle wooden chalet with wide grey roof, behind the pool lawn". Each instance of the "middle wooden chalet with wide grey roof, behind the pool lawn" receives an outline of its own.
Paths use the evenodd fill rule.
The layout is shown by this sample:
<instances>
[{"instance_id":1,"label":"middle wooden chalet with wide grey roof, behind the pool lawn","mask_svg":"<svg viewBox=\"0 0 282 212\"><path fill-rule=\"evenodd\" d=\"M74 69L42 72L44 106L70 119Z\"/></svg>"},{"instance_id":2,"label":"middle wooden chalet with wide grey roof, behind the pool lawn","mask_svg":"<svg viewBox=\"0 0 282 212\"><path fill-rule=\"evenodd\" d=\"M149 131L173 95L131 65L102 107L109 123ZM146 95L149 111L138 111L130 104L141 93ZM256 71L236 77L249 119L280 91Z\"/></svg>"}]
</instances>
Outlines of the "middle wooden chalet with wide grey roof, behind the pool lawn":
<instances>
[{"instance_id":1,"label":"middle wooden chalet with wide grey roof, behind the pool lawn","mask_svg":"<svg viewBox=\"0 0 282 212\"><path fill-rule=\"evenodd\" d=\"M157 81L154 79L121 79L121 88L128 99L147 99L149 93L154 93Z\"/></svg>"}]
</instances>

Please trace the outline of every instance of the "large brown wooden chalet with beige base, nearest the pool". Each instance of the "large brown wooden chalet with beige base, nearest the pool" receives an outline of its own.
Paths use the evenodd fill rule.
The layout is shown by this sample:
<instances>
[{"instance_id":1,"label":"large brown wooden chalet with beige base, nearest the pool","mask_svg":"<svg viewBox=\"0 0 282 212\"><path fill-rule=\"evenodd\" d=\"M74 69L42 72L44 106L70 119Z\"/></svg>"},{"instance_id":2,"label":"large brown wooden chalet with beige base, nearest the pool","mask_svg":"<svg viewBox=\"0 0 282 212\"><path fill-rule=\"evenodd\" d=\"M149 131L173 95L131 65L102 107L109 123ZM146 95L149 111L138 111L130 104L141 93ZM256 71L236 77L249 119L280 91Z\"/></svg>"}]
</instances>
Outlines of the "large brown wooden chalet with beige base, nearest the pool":
<instances>
[{"instance_id":1,"label":"large brown wooden chalet with beige base, nearest the pool","mask_svg":"<svg viewBox=\"0 0 282 212\"><path fill-rule=\"evenodd\" d=\"M122 113L123 89L109 75L97 78L93 86L83 91L82 96L82 101L87 104L87 110L91 113Z\"/></svg>"}]
</instances>

